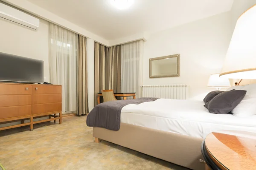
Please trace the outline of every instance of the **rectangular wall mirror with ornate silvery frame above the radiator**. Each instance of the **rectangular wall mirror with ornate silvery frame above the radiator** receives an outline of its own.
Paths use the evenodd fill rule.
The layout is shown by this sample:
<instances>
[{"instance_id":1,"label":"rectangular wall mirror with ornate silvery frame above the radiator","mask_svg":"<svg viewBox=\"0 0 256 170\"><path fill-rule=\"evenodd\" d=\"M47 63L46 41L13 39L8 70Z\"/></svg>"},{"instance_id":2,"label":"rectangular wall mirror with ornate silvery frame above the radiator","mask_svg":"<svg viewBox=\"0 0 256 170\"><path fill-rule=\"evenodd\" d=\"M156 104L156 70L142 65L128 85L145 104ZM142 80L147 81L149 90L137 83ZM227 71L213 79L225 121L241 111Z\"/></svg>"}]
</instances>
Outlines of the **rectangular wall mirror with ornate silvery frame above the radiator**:
<instances>
[{"instance_id":1,"label":"rectangular wall mirror with ornate silvery frame above the radiator","mask_svg":"<svg viewBox=\"0 0 256 170\"><path fill-rule=\"evenodd\" d=\"M180 54L149 59L149 78L179 76Z\"/></svg>"}]
</instances>

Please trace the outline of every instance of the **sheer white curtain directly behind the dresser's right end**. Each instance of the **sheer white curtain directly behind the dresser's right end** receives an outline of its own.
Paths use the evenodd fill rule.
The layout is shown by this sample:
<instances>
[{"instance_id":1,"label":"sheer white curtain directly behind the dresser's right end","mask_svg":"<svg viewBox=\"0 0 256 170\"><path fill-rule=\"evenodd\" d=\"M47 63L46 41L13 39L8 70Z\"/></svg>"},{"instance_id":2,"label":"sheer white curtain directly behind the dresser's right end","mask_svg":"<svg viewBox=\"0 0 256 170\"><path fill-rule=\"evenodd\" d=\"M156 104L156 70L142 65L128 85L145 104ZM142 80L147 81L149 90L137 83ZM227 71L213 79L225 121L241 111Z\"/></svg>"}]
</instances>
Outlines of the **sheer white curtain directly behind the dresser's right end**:
<instances>
[{"instance_id":1,"label":"sheer white curtain directly behind the dresser's right end","mask_svg":"<svg viewBox=\"0 0 256 170\"><path fill-rule=\"evenodd\" d=\"M77 39L72 31L50 23L50 81L62 85L62 112L76 111Z\"/></svg>"}]
</instances>

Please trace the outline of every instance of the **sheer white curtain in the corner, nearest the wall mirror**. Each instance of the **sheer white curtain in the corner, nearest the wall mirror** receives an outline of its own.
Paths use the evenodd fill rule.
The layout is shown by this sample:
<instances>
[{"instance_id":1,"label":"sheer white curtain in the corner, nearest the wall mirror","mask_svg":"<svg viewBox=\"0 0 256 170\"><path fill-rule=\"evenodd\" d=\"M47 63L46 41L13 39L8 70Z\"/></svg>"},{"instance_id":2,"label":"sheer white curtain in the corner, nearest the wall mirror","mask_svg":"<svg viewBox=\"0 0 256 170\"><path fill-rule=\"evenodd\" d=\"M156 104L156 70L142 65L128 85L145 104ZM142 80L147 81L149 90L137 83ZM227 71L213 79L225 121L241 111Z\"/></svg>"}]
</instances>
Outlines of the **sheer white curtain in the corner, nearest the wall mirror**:
<instances>
[{"instance_id":1,"label":"sheer white curtain in the corner, nearest the wall mirror","mask_svg":"<svg viewBox=\"0 0 256 170\"><path fill-rule=\"evenodd\" d=\"M144 40L121 45L121 91L141 96Z\"/></svg>"}]
</instances>

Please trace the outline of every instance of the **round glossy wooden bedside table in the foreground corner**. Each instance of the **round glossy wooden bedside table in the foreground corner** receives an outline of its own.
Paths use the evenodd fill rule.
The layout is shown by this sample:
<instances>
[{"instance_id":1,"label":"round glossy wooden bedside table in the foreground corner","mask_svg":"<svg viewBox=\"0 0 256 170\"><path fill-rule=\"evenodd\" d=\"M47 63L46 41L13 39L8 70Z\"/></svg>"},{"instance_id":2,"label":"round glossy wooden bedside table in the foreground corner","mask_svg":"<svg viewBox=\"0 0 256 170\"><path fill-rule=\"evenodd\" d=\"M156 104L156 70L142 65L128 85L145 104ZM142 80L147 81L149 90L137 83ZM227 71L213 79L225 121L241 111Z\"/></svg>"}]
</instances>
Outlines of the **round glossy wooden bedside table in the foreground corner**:
<instances>
[{"instance_id":1,"label":"round glossy wooden bedside table in the foreground corner","mask_svg":"<svg viewBox=\"0 0 256 170\"><path fill-rule=\"evenodd\" d=\"M212 132L202 143L209 170L256 170L256 133L222 130Z\"/></svg>"}]
</instances>

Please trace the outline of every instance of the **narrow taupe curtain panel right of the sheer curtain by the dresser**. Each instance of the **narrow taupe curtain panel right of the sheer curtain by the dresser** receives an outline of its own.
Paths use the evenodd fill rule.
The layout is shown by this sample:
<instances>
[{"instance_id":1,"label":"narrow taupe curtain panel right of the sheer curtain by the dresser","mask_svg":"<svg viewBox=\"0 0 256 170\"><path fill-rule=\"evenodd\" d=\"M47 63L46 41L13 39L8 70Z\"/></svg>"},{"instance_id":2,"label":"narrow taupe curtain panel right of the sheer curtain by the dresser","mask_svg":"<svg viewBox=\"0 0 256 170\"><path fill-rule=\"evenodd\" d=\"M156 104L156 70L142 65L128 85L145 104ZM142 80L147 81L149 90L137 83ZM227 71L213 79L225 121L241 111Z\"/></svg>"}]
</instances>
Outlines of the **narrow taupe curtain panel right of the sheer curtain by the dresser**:
<instances>
[{"instance_id":1,"label":"narrow taupe curtain panel right of the sheer curtain by the dresser","mask_svg":"<svg viewBox=\"0 0 256 170\"><path fill-rule=\"evenodd\" d=\"M86 38L78 36L78 110L77 115L88 113Z\"/></svg>"}]
</instances>

